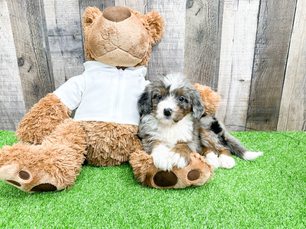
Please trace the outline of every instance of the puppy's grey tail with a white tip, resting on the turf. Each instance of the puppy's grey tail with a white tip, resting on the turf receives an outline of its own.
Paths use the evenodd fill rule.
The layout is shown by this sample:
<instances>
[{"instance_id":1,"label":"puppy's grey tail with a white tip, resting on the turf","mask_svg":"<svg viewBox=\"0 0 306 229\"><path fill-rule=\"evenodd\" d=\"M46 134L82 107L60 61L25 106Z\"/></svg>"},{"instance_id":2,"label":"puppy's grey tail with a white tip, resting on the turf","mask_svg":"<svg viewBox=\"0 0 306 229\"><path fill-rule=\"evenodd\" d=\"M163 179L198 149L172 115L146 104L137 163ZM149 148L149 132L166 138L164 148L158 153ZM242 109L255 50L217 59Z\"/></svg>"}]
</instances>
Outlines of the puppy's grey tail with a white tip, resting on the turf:
<instances>
[{"instance_id":1,"label":"puppy's grey tail with a white tip, resting on the turf","mask_svg":"<svg viewBox=\"0 0 306 229\"><path fill-rule=\"evenodd\" d=\"M226 135L227 148L232 154L244 160L254 160L259 156L263 155L263 152L251 152L250 150L245 148L237 138L231 136L229 133L226 133Z\"/></svg>"}]
</instances>

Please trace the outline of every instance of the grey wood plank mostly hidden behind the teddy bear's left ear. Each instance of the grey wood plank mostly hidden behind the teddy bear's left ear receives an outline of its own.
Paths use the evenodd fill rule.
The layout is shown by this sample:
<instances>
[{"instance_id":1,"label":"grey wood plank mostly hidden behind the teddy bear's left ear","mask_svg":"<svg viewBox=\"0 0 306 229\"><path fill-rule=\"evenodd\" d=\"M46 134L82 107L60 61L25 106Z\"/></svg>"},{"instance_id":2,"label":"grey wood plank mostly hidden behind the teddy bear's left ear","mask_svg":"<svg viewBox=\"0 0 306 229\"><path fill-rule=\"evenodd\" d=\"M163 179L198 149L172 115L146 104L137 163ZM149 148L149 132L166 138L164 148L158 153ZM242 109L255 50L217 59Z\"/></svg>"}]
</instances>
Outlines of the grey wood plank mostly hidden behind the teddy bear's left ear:
<instances>
[{"instance_id":1,"label":"grey wood plank mostly hidden behind the teddy bear's left ear","mask_svg":"<svg viewBox=\"0 0 306 229\"><path fill-rule=\"evenodd\" d=\"M89 6L96 6L98 7L101 12L111 6L115 6L115 0L79 0L79 6L80 6L80 18L81 18L81 23L83 21L83 14L86 10L87 7ZM82 29L82 39L83 39L83 44L85 43L85 37ZM84 56L86 60L86 53L84 51Z\"/></svg>"}]
</instances>

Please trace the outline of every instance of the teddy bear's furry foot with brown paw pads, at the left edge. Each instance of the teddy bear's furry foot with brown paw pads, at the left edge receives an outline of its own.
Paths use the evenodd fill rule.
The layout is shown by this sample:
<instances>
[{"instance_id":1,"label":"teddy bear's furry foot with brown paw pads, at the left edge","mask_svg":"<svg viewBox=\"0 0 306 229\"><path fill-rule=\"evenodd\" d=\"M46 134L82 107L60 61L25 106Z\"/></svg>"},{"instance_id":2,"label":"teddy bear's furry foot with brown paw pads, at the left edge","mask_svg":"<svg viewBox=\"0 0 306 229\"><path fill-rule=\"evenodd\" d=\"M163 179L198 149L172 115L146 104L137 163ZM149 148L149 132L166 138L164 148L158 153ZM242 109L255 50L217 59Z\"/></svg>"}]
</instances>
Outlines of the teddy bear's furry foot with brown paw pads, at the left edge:
<instances>
[{"instance_id":1,"label":"teddy bear's furry foot with brown paw pads, at the left edge","mask_svg":"<svg viewBox=\"0 0 306 229\"><path fill-rule=\"evenodd\" d=\"M4 146L0 179L27 193L59 191L74 184L84 159L63 145Z\"/></svg>"}]
</instances>

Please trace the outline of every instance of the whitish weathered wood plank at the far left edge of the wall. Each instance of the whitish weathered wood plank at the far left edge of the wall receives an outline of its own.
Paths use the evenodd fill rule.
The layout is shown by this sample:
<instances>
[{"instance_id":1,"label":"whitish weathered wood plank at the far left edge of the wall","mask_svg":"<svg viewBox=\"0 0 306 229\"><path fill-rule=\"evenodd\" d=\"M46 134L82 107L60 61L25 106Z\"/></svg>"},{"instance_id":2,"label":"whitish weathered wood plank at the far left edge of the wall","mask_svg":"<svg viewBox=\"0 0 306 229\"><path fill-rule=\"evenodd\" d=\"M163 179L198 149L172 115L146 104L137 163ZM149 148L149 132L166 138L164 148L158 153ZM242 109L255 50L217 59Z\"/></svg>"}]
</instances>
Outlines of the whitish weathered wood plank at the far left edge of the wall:
<instances>
[{"instance_id":1,"label":"whitish weathered wood plank at the far left edge of the wall","mask_svg":"<svg viewBox=\"0 0 306 229\"><path fill-rule=\"evenodd\" d=\"M16 131L26 113L6 0L0 1L0 130Z\"/></svg>"}]
</instances>

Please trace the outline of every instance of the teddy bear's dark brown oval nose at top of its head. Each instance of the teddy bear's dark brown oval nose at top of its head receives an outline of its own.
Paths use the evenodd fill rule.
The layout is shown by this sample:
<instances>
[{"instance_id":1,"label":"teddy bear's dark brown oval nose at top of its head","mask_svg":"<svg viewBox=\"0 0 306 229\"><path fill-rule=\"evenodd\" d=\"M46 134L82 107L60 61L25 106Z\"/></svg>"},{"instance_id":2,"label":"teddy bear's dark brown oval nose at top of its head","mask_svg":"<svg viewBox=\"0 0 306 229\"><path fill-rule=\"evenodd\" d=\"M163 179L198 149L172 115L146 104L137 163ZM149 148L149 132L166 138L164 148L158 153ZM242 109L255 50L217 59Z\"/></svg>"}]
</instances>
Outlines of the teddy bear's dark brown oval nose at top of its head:
<instances>
[{"instance_id":1,"label":"teddy bear's dark brown oval nose at top of its head","mask_svg":"<svg viewBox=\"0 0 306 229\"><path fill-rule=\"evenodd\" d=\"M131 17L131 11L124 6L112 6L103 10L102 15L109 21L120 22Z\"/></svg>"}]
</instances>

